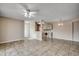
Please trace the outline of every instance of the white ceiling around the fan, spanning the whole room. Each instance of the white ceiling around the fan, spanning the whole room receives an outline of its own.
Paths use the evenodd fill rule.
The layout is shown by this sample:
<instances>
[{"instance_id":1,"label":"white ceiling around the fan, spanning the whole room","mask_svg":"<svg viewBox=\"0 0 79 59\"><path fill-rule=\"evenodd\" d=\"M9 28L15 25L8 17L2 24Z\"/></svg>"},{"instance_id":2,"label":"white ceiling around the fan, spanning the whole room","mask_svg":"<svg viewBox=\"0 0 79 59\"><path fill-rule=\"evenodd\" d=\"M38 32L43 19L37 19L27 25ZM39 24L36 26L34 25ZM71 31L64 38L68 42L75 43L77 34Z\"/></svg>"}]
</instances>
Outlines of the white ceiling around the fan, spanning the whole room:
<instances>
[{"instance_id":1,"label":"white ceiling around the fan, spanning the whole room","mask_svg":"<svg viewBox=\"0 0 79 59\"><path fill-rule=\"evenodd\" d=\"M25 6L20 3L0 3L0 16L29 20L24 16L23 11L27 6L31 10L39 10L36 17L30 20L69 20L79 16L78 3L25 3L23 5Z\"/></svg>"}]
</instances>

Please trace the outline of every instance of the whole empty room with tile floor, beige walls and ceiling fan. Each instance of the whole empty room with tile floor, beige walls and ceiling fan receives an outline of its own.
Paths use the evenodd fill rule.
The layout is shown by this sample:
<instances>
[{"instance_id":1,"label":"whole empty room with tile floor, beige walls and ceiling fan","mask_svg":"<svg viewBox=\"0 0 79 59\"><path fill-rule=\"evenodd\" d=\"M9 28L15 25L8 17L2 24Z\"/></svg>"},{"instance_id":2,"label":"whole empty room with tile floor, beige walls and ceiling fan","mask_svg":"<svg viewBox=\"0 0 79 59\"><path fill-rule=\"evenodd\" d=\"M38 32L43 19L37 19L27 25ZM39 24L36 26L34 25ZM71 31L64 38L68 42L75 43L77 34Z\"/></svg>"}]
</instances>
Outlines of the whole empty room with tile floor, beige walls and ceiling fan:
<instances>
[{"instance_id":1,"label":"whole empty room with tile floor, beige walls and ceiling fan","mask_svg":"<svg viewBox=\"0 0 79 59\"><path fill-rule=\"evenodd\" d=\"M79 3L0 3L0 56L79 56Z\"/></svg>"}]
</instances>

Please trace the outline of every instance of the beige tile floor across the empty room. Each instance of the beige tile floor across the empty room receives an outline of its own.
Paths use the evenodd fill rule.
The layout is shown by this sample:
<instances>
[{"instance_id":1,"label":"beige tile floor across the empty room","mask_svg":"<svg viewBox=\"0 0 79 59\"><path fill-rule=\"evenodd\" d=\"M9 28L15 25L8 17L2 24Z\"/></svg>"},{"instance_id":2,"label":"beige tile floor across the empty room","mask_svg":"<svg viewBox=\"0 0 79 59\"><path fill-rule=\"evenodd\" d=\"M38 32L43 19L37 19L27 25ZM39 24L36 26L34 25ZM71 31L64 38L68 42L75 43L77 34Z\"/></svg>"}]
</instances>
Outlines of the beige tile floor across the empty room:
<instances>
[{"instance_id":1,"label":"beige tile floor across the empty room","mask_svg":"<svg viewBox=\"0 0 79 59\"><path fill-rule=\"evenodd\" d=\"M0 56L79 56L79 45L26 39L0 44Z\"/></svg>"}]
</instances>

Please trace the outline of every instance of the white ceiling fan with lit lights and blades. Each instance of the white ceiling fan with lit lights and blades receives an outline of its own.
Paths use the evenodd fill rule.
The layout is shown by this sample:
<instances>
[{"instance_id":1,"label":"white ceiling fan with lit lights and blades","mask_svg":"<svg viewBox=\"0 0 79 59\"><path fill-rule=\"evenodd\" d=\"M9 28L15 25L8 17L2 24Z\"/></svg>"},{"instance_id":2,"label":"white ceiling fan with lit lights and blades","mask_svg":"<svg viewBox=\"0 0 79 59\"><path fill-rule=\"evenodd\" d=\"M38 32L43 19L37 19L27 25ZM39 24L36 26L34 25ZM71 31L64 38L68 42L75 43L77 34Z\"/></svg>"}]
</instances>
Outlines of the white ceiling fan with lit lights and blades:
<instances>
[{"instance_id":1,"label":"white ceiling fan with lit lights and blades","mask_svg":"<svg viewBox=\"0 0 79 59\"><path fill-rule=\"evenodd\" d=\"M28 4L21 4L21 6L23 7L24 16L28 18L35 17L39 11L38 9L30 9Z\"/></svg>"}]
</instances>

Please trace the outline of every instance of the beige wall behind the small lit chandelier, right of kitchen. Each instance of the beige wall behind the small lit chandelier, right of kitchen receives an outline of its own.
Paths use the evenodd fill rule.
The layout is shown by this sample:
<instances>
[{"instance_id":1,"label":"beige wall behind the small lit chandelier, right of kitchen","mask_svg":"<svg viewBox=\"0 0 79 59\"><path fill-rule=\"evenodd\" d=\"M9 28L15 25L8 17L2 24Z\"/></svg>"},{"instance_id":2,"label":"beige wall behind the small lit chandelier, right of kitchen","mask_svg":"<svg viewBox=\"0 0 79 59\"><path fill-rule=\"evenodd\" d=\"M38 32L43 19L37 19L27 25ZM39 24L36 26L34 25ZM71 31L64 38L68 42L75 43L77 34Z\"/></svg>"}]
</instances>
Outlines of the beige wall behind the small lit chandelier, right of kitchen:
<instances>
[{"instance_id":1,"label":"beige wall behind the small lit chandelier, right of kitchen","mask_svg":"<svg viewBox=\"0 0 79 59\"><path fill-rule=\"evenodd\" d=\"M57 25L58 23L53 23L53 37L64 40L72 40L72 23L65 22L62 27Z\"/></svg>"}]
</instances>

